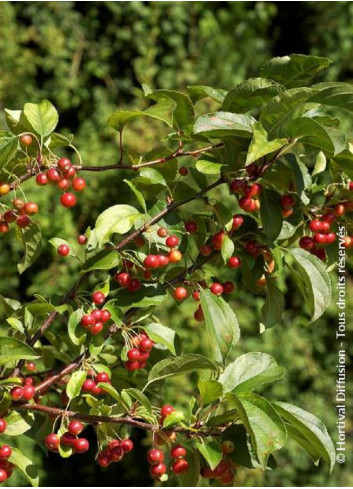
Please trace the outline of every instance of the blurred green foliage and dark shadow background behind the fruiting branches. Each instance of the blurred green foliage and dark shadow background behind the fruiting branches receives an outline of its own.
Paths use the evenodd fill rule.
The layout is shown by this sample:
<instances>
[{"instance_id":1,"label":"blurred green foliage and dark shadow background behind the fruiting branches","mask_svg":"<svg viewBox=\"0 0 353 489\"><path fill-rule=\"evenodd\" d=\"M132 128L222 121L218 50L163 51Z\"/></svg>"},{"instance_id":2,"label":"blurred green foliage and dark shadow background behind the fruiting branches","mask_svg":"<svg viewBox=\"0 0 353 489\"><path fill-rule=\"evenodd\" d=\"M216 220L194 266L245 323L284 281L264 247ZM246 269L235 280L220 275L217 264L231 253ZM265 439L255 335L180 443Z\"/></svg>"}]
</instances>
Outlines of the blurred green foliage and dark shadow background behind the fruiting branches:
<instances>
[{"instance_id":1,"label":"blurred green foliage and dark shadow background behind the fruiting branches","mask_svg":"<svg viewBox=\"0 0 353 489\"><path fill-rule=\"evenodd\" d=\"M334 61L326 80L353 77L352 2L1 2L0 109L17 109L25 102L50 99L57 107L60 129L75 134L85 164L113 163L118 158L115 134L106 126L117 108L144 108L141 84L184 89L205 84L230 89L261 64L293 52L327 56ZM0 115L0 127L4 120ZM147 152L160 139L161 126L138 122L126 133L129 149ZM114 203L128 202L125 175L88 175L89 188L72 212L57 205L53 188L38 192L25 184L28 197L42 209L38 218L45 239L61 236L75 241L95 217ZM125 188L126 187L126 188ZM69 239L70 241L70 239ZM28 300L34 293L50 296L67 290L76 265L58 259L45 246L39 261L19 278L16 262L21 245L13 234L1 238L0 293ZM286 377L267 387L267 393L315 413L335 438L334 407L337 314L332 306L324 318L307 325L307 317L293 284L288 282L288 312L282 324L258 333L263 299L238 284L235 309L243 331L239 354L250 350L272 354L287 368ZM348 285L352 297L352 281ZM353 303L347 317L353 317ZM189 302L161 311L160 318L175 328L186 350L207 351L202 324L195 325ZM201 342L200 342L201 339ZM352 352L350 352L352 353ZM349 365L348 365L349 368ZM349 391L350 389L350 391ZM352 379L347 392L352 392ZM182 379L170 381L166 400L183 407L196 394ZM347 420L347 435L353 432ZM92 463L92 453L78 460L46 459L44 451L24 439L21 447L40 467L43 486L152 485L145 462L146 441L135 433L136 451L122 464L103 471ZM347 446L352 452L352 444ZM336 466L316 468L297 446L277 457L273 472L240 470L238 486L351 486L352 456ZM15 472L9 486L26 485Z\"/></svg>"}]
</instances>

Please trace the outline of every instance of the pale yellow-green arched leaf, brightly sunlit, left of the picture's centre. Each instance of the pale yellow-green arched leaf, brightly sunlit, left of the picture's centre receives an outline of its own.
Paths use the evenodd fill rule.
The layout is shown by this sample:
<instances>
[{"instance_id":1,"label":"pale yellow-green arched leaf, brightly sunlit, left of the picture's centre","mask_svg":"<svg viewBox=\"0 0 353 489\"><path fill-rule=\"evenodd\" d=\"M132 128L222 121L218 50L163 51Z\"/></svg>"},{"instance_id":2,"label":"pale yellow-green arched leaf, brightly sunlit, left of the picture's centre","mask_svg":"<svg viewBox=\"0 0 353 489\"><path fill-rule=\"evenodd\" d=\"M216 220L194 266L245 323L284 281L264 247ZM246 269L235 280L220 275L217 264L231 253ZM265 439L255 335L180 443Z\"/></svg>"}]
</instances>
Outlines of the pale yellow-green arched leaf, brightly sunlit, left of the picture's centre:
<instances>
[{"instance_id":1,"label":"pale yellow-green arched leaf, brightly sunlit, left of the picture's centre","mask_svg":"<svg viewBox=\"0 0 353 489\"><path fill-rule=\"evenodd\" d=\"M140 215L135 207L126 204L114 205L103 211L98 216L94 229L99 246L107 243L114 233L127 233Z\"/></svg>"}]
</instances>

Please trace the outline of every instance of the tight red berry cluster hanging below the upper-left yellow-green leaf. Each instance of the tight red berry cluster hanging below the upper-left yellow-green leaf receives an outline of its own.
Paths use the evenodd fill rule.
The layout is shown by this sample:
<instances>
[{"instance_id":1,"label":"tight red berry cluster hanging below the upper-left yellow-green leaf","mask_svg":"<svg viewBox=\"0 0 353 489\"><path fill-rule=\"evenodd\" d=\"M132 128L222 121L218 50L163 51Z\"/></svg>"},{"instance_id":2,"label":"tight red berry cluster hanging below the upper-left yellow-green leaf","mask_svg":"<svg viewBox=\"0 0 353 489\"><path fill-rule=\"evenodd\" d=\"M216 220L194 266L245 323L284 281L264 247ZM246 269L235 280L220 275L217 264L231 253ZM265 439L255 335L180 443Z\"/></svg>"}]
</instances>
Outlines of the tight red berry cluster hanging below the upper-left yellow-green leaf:
<instances>
[{"instance_id":1,"label":"tight red berry cluster hanging below the upper-left yellow-green leaf","mask_svg":"<svg viewBox=\"0 0 353 489\"><path fill-rule=\"evenodd\" d=\"M72 187L75 192L82 192L86 188L86 180L76 176L76 170L69 158L60 158L55 166L45 173L38 173L36 183L39 186L57 185L64 193L60 197L63 207L73 207L76 204L76 195L67 190Z\"/></svg>"}]
</instances>

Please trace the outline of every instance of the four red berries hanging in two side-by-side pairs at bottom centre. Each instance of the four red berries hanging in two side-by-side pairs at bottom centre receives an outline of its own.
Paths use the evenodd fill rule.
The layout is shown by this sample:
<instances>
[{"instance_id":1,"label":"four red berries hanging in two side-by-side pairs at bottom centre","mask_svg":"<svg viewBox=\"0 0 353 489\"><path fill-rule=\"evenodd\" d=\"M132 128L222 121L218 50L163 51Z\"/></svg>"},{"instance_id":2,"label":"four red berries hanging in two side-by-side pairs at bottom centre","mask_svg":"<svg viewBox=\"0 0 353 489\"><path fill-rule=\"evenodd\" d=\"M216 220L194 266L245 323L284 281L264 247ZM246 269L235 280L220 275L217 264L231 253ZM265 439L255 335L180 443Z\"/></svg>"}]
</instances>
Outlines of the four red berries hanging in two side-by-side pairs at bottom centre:
<instances>
[{"instance_id":1,"label":"four red berries hanging in two side-by-side pairs at bottom centre","mask_svg":"<svg viewBox=\"0 0 353 489\"><path fill-rule=\"evenodd\" d=\"M189 464L185 460L186 449L182 445L175 445L170 451L173 460L172 471L176 475L185 474L189 470ZM160 479L167 472L164 463L164 453L159 448L151 448L147 453L147 461L151 465L150 473L155 479Z\"/></svg>"}]
</instances>

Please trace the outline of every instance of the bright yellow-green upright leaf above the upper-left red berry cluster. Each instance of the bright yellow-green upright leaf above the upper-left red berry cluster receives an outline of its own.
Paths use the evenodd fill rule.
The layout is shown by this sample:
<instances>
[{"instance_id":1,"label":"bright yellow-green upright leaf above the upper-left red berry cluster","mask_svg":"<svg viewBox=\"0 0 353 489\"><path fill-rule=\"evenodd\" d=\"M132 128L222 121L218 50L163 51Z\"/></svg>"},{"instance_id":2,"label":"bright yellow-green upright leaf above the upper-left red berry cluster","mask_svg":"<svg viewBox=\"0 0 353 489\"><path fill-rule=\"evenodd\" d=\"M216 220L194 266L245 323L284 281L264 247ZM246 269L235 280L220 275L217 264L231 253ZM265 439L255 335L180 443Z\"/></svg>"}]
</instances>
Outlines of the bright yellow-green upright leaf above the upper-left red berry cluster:
<instances>
[{"instance_id":1,"label":"bright yellow-green upright leaf above the upper-left red berry cluster","mask_svg":"<svg viewBox=\"0 0 353 489\"><path fill-rule=\"evenodd\" d=\"M42 100L39 104L25 104L23 116L41 138L49 136L59 121L58 113L52 103Z\"/></svg>"}]
</instances>

